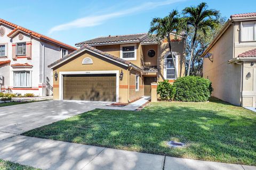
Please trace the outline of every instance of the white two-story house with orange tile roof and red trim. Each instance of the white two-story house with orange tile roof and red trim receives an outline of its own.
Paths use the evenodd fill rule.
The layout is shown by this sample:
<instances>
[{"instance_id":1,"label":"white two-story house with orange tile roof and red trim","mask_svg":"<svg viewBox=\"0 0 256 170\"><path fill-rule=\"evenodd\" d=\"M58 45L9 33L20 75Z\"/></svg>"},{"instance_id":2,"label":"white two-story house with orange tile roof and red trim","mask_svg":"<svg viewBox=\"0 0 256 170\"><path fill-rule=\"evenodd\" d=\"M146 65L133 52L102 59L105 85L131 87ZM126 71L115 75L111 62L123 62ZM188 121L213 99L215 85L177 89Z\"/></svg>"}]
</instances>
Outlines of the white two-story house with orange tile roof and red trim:
<instances>
[{"instance_id":1,"label":"white two-story house with orange tile roof and red trim","mask_svg":"<svg viewBox=\"0 0 256 170\"><path fill-rule=\"evenodd\" d=\"M0 19L0 92L52 95L47 66L76 48Z\"/></svg>"}]
</instances>

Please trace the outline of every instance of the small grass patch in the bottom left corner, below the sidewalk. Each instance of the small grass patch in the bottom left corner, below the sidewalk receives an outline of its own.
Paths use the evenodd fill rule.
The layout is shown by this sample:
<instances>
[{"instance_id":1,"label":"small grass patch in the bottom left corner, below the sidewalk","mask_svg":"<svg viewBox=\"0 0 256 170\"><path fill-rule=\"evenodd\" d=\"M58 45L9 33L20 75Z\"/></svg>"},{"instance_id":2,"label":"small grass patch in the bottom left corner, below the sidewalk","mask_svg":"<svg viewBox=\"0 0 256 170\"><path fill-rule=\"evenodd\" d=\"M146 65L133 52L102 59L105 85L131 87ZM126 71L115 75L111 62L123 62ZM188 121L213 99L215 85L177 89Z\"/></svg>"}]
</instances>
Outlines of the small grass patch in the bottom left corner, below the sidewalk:
<instances>
[{"instance_id":1,"label":"small grass patch in the bottom left corner, below the sidewalk","mask_svg":"<svg viewBox=\"0 0 256 170\"><path fill-rule=\"evenodd\" d=\"M0 169L1 170L40 170L30 166L12 163L11 161L6 161L3 159L0 159Z\"/></svg>"}]
</instances>

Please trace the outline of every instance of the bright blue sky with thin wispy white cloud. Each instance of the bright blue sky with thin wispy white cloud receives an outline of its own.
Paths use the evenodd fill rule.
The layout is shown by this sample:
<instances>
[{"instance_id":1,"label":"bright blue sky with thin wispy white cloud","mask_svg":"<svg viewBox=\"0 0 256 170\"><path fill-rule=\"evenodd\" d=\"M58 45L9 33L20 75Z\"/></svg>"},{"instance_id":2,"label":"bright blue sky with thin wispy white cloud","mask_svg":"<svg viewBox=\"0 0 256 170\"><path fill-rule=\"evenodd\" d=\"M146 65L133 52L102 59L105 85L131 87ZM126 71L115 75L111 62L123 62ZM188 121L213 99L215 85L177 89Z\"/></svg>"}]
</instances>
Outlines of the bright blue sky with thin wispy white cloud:
<instances>
[{"instance_id":1,"label":"bright blue sky with thin wispy white cloud","mask_svg":"<svg viewBox=\"0 0 256 170\"><path fill-rule=\"evenodd\" d=\"M98 36L146 33L152 18L201 2L227 18L256 12L255 0L13 0L2 2L0 18L74 45Z\"/></svg>"}]
</instances>

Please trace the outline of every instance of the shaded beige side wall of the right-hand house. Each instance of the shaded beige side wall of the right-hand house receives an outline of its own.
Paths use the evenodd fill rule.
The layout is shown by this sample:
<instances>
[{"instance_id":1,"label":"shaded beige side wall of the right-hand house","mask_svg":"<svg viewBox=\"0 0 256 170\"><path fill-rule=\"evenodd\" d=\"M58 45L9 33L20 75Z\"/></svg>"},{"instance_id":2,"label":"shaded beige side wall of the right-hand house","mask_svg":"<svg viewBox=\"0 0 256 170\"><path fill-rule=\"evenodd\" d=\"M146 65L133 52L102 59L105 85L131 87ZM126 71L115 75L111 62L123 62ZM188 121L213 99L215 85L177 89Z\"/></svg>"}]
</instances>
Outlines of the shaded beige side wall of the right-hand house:
<instances>
[{"instance_id":1,"label":"shaded beige side wall of the right-hand house","mask_svg":"<svg viewBox=\"0 0 256 170\"><path fill-rule=\"evenodd\" d=\"M212 82L212 96L239 106L241 104L241 64L228 64L234 53L234 26L231 25L209 53L213 62L204 58L203 77Z\"/></svg>"}]
</instances>

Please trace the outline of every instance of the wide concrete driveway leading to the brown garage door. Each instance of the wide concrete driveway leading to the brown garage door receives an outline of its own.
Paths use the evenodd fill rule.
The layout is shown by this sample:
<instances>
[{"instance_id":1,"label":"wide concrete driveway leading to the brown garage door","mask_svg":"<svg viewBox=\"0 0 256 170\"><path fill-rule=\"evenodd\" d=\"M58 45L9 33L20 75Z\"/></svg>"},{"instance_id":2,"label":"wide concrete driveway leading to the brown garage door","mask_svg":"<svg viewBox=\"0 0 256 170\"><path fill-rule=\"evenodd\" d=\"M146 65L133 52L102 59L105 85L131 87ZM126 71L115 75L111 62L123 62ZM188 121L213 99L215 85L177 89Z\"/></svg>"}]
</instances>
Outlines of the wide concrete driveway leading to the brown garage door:
<instances>
[{"instance_id":1,"label":"wide concrete driveway leading to the brown garage door","mask_svg":"<svg viewBox=\"0 0 256 170\"><path fill-rule=\"evenodd\" d=\"M109 103L49 100L1 107L0 140L12 134L21 134L86 111L102 108Z\"/></svg>"}]
</instances>

